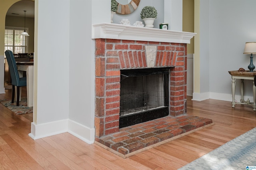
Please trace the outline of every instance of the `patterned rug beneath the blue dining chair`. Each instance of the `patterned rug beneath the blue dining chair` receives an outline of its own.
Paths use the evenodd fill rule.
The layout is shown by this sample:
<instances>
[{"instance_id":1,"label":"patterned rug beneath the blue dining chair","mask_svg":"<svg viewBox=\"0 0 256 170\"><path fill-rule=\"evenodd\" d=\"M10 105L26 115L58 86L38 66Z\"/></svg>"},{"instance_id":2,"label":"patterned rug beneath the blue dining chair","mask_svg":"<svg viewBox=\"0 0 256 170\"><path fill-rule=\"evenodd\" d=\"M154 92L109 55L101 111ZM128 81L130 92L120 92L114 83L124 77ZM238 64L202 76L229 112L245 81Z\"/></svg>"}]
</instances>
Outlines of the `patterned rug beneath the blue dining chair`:
<instances>
[{"instance_id":1,"label":"patterned rug beneath the blue dining chair","mask_svg":"<svg viewBox=\"0 0 256 170\"><path fill-rule=\"evenodd\" d=\"M16 106L16 102L12 103L11 101L0 100L1 104L5 107L13 111L16 115L26 114L26 113L33 113L33 107L28 107L27 98L20 99L20 105Z\"/></svg>"}]
</instances>

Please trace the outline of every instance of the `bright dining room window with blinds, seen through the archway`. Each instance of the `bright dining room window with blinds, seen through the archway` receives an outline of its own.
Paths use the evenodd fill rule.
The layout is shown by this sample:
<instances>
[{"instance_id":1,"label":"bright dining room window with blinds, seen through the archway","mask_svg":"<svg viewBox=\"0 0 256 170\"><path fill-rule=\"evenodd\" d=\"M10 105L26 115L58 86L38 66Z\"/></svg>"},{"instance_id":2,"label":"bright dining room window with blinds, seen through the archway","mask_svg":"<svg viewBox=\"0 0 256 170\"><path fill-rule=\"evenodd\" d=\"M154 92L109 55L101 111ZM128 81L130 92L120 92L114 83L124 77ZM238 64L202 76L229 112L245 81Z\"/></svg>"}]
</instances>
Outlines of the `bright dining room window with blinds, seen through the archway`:
<instances>
[{"instance_id":1,"label":"bright dining room window with blinds, seen through the archway","mask_svg":"<svg viewBox=\"0 0 256 170\"><path fill-rule=\"evenodd\" d=\"M26 36L21 36L24 29L6 28L4 32L4 51L11 50L12 53L25 53L27 48Z\"/></svg>"}]
</instances>

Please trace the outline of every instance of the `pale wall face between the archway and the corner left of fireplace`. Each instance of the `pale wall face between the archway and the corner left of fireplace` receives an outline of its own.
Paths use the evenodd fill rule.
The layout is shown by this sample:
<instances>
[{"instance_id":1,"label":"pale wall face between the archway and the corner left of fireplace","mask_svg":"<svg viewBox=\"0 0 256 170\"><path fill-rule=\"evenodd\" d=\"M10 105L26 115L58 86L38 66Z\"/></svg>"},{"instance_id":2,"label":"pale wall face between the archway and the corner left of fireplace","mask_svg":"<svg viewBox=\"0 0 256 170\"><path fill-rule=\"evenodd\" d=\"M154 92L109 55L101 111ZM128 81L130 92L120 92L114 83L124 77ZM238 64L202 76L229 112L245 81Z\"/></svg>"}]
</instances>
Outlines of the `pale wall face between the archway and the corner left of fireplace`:
<instances>
[{"instance_id":1,"label":"pale wall face between the archway and the corner left of fireplace","mask_svg":"<svg viewBox=\"0 0 256 170\"><path fill-rule=\"evenodd\" d=\"M40 124L68 118L69 0L38 0L38 21L37 123Z\"/></svg>"}]
</instances>

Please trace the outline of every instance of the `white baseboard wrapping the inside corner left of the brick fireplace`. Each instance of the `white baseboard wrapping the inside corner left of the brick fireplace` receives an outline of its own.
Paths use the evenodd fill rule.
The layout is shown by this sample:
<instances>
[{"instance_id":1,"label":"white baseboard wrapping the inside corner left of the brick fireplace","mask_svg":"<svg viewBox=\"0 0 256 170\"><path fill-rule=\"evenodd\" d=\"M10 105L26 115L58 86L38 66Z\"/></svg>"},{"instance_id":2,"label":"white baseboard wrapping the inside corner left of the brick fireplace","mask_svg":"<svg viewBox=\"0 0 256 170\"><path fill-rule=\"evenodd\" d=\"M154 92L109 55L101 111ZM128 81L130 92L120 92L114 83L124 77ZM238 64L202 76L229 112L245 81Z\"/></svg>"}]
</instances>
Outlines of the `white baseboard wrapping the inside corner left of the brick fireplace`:
<instances>
[{"instance_id":1,"label":"white baseboard wrapping the inside corner left of the brick fireplace","mask_svg":"<svg viewBox=\"0 0 256 170\"><path fill-rule=\"evenodd\" d=\"M95 129L88 128L77 122L71 121L70 119L42 124L35 124L32 122L31 133L28 135L36 140L64 132L69 132L88 144L94 143Z\"/></svg>"}]
</instances>

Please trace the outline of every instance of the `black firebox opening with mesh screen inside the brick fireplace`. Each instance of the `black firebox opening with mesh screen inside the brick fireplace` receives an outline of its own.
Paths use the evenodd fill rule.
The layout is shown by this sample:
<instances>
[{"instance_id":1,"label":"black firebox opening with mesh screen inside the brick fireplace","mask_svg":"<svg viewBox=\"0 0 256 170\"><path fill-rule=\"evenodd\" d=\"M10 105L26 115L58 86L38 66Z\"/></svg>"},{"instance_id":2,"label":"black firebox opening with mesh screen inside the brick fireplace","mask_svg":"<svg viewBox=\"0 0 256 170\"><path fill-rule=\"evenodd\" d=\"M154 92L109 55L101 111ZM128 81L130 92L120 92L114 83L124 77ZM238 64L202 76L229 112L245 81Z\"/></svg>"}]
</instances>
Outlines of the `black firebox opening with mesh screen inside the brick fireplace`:
<instances>
[{"instance_id":1,"label":"black firebox opening with mesh screen inside the brick fireplace","mask_svg":"<svg viewBox=\"0 0 256 170\"><path fill-rule=\"evenodd\" d=\"M169 67L120 70L119 128L169 115Z\"/></svg>"}]
</instances>

